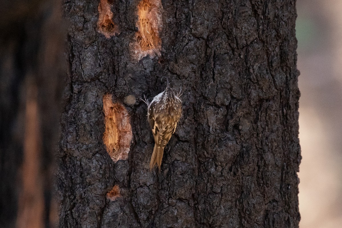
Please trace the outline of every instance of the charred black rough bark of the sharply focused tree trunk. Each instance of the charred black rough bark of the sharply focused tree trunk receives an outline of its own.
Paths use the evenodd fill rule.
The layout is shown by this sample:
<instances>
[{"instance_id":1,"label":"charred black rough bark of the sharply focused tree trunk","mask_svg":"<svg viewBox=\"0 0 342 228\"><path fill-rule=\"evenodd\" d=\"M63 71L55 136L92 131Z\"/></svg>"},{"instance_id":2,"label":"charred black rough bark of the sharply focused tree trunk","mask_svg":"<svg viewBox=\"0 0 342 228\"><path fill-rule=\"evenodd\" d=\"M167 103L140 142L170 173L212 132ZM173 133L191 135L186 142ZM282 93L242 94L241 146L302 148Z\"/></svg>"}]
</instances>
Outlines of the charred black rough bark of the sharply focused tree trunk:
<instances>
[{"instance_id":1,"label":"charred black rough bark of the sharply focused tree trunk","mask_svg":"<svg viewBox=\"0 0 342 228\"><path fill-rule=\"evenodd\" d=\"M120 35L97 32L97 1L65 1L68 87L60 227L298 227L295 1L162 1L159 58L131 57L139 1L110 1ZM161 172L143 94L185 90ZM124 104L133 139L113 162L102 97ZM136 102L125 103L127 96ZM115 185L120 196L106 198Z\"/></svg>"}]
</instances>

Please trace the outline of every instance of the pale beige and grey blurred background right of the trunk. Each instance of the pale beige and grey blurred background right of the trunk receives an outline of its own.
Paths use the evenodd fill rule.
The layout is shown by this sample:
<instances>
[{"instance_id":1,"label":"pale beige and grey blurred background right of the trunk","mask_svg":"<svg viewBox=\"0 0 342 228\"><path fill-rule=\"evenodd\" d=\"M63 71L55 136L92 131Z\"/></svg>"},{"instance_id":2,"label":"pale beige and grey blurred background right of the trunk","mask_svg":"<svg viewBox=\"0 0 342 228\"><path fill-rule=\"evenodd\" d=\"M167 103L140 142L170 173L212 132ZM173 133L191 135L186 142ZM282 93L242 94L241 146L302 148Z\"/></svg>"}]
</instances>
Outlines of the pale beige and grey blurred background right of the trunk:
<instances>
[{"instance_id":1,"label":"pale beige and grey blurred background right of the trunk","mask_svg":"<svg viewBox=\"0 0 342 228\"><path fill-rule=\"evenodd\" d=\"M300 228L342 227L342 0L297 0Z\"/></svg>"}]
</instances>

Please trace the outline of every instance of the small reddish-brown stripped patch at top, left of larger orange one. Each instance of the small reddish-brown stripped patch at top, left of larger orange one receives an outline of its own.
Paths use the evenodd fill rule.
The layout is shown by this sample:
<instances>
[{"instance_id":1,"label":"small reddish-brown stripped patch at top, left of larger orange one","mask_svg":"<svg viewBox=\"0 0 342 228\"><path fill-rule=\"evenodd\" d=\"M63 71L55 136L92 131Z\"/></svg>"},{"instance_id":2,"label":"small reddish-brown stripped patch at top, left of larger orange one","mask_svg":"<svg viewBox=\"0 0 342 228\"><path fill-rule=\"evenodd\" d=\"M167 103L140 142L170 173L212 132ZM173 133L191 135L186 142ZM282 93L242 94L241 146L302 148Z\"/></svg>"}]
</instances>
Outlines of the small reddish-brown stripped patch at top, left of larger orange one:
<instances>
[{"instance_id":1,"label":"small reddish-brown stripped patch at top, left of larger orange one","mask_svg":"<svg viewBox=\"0 0 342 228\"><path fill-rule=\"evenodd\" d=\"M111 4L113 4L113 0L100 0L97 8L97 29L100 33L105 35L106 38L110 38L116 33L119 33L118 26L113 22L113 12L110 10Z\"/></svg>"}]
</instances>

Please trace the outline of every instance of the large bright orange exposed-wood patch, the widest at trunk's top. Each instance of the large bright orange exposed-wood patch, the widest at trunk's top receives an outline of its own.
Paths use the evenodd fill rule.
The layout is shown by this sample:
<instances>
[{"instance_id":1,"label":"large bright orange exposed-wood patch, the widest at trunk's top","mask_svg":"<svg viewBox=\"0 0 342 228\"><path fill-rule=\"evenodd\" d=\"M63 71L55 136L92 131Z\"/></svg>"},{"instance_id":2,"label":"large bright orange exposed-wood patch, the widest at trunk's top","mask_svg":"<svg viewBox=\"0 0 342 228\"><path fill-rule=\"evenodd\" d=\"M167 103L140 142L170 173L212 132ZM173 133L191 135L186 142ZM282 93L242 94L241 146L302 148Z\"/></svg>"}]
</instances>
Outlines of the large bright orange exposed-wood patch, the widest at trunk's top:
<instances>
[{"instance_id":1,"label":"large bright orange exposed-wood patch, the widest at trunk's top","mask_svg":"<svg viewBox=\"0 0 342 228\"><path fill-rule=\"evenodd\" d=\"M160 54L161 40L159 31L161 28L160 0L142 0L138 4L138 21L136 27L136 42L133 48L133 55L141 59L146 55L155 56Z\"/></svg>"}]
</instances>

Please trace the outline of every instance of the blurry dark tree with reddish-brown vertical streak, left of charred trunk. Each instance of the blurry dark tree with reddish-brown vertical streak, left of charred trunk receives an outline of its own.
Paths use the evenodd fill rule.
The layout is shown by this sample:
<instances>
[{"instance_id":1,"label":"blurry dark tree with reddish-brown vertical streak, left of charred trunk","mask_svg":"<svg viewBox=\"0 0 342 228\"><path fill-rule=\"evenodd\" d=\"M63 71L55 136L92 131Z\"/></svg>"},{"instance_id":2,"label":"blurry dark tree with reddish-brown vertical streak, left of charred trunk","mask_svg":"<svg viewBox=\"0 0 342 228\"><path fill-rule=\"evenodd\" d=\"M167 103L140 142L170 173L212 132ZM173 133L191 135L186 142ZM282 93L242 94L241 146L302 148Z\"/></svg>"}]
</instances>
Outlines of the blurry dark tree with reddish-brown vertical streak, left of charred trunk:
<instances>
[{"instance_id":1,"label":"blurry dark tree with reddish-brown vertical streak, left of charred trunk","mask_svg":"<svg viewBox=\"0 0 342 228\"><path fill-rule=\"evenodd\" d=\"M1 1L0 227L55 227L53 164L65 70L56 1ZM50 226L51 225L51 226Z\"/></svg>"}]
</instances>

